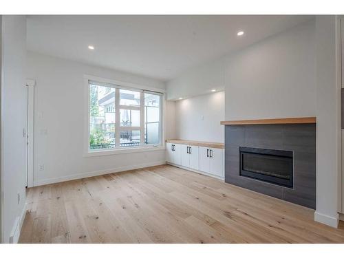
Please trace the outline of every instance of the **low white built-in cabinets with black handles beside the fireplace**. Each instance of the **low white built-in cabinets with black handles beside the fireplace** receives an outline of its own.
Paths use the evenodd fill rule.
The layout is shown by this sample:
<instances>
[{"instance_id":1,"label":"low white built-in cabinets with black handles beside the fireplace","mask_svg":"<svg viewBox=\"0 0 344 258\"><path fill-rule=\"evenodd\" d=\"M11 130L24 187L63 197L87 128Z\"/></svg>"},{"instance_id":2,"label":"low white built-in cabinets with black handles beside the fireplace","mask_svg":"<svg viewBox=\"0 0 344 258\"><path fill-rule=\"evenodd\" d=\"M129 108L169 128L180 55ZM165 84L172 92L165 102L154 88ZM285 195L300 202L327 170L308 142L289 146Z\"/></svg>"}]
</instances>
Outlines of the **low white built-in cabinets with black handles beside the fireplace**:
<instances>
[{"instance_id":1,"label":"low white built-in cabinets with black handles beside the fireplace","mask_svg":"<svg viewBox=\"0 0 344 258\"><path fill-rule=\"evenodd\" d=\"M216 178L224 178L224 149L166 142L166 161ZM206 144L202 142L202 144Z\"/></svg>"}]
</instances>

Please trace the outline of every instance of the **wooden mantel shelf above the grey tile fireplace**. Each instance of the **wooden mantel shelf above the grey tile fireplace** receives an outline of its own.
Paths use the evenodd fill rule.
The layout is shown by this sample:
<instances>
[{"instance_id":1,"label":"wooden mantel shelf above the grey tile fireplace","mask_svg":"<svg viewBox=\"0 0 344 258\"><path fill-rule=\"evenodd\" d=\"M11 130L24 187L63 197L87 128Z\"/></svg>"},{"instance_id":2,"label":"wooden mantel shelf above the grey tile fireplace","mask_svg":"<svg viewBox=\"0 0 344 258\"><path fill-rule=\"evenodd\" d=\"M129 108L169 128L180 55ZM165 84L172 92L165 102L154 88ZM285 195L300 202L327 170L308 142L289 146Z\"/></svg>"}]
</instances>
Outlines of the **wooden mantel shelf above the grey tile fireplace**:
<instances>
[{"instance_id":1,"label":"wooden mantel shelf above the grey tile fireplace","mask_svg":"<svg viewBox=\"0 0 344 258\"><path fill-rule=\"evenodd\" d=\"M221 121L221 125L277 125L277 124L315 124L315 123L316 123L315 117Z\"/></svg>"}]
</instances>

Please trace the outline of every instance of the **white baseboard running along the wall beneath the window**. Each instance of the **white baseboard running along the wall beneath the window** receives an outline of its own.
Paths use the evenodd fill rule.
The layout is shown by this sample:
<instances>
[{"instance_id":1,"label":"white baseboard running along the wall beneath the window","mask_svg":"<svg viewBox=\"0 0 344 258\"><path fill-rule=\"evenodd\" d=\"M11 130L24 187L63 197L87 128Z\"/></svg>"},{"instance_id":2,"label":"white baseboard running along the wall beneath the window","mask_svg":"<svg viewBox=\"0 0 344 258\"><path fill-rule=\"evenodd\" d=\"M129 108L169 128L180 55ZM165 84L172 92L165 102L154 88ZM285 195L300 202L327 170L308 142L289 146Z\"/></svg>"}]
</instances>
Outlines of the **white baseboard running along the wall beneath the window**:
<instances>
[{"instance_id":1,"label":"white baseboard running along the wall beneath the window","mask_svg":"<svg viewBox=\"0 0 344 258\"><path fill-rule=\"evenodd\" d=\"M143 169L143 168L148 167L148 166L158 166L158 165L162 165L162 164L166 164L166 162L165 161L158 161L158 162L149 162L149 163L131 165L131 166L120 166L120 167L116 167L114 169L105 169L105 170L99 170L99 171L93 171L93 172L87 172L87 173L78 173L78 174L74 174L74 175L66 175L66 176L58 177L58 178L48 178L48 179L44 179L44 180L36 180L36 181L34 181L34 186L42 186L45 184L54 184L54 183L65 182L65 181L70 181L70 180L90 178L90 177L94 177L96 175L106 175L109 173L117 173L117 172L132 170L132 169Z\"/></svg>"}]
</instances>

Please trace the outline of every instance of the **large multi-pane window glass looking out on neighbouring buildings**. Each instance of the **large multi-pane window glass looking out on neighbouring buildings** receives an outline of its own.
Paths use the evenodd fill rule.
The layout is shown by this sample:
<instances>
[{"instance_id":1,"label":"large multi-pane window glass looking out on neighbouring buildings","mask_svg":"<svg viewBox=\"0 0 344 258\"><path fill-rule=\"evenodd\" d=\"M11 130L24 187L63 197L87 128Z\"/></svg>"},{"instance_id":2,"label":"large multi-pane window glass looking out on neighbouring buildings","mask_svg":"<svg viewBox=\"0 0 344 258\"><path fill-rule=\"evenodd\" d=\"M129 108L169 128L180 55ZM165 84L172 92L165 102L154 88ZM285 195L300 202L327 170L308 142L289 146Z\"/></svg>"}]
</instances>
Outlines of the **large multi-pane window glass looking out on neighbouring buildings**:
<instances>
[{"instance_id":1,"label":"large multi-pane window glass looking out on neighbouring buildings","mask_svg":"<svg viewBox=\"0 0 344 258\"><path fill-rule=\"evenodd\" d=\"M89 151L161 144L162 94L88 84Z\"/></svg>"}]
</instances>

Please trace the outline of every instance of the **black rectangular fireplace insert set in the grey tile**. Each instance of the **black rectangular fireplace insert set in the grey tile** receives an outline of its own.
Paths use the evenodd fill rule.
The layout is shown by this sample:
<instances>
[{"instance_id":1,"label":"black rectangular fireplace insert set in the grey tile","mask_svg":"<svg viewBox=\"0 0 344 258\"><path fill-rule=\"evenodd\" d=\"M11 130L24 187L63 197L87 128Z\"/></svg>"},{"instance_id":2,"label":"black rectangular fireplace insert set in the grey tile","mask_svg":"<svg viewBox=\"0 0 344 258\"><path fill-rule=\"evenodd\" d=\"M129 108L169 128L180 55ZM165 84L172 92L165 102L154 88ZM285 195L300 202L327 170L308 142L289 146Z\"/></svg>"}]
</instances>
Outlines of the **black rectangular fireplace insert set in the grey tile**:
<instances>
[{"instance_id":1,"label":"black rectangular fireplace insert set in the grey tile","mask_svg":"<svg viewBox=\"0 0 344 258\"><path fill-rule=\"evenodd\" d=\"M240 176L293 187L292 151L250 147L239 147L239 151Z\"/></svg>"}]
</instances>

